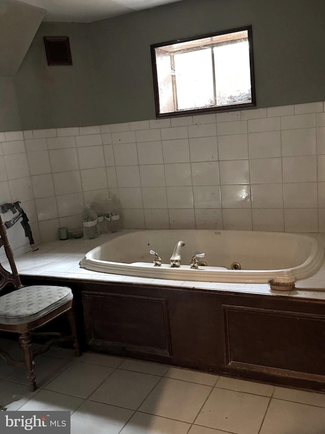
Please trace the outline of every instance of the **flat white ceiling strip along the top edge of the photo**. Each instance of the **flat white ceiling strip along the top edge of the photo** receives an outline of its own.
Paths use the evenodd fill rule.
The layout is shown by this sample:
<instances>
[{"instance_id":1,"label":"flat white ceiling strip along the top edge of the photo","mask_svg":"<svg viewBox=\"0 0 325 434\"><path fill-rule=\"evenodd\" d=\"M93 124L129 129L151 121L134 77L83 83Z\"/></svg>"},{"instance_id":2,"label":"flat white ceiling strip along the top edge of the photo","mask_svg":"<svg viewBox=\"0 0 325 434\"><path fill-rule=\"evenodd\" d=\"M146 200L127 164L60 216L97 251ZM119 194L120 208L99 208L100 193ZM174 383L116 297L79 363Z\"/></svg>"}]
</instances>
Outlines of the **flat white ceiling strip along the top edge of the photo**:
<instances>
[{"instance_id":1,"label":"flat white ceiling strip along the top edge of the photo","mask_svg":"<svg viewBox=\"0 0 325 434\"><path fill-rule=\"evenodd\" d=\"M0 0L1 1L1 0ZM15 0L11 0L15 1ZM44 21L91 22L181 0L20 0L46 9Z\"/></svg>"}]
</instances>

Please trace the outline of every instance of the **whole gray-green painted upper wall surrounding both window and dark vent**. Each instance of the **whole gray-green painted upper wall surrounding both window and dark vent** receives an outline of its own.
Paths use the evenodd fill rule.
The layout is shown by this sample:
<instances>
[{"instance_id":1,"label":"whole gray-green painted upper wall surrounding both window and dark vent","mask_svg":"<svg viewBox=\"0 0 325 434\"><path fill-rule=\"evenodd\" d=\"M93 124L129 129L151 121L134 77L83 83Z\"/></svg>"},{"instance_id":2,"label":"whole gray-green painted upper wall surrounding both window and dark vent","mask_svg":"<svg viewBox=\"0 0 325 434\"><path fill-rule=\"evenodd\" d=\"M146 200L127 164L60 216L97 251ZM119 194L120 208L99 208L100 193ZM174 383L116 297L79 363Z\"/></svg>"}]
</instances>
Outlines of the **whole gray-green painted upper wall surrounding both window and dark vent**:
<instances>
[{"instance_id":1,"label":"whole gray-green painted upper wall surrounding both window and dark vent","mask_svg":"<svg viewBox=\"0 0 325 434\"><path fill-rule=\"evenodd\" d=\"M153 119L150 44L247 24L257 107L325 100L324 16L323 0L184 0L91 24L44 23L15 79L23 128ZM73 67L47 66L44 35L71 38Z\"/></svg>"}]
</instances>

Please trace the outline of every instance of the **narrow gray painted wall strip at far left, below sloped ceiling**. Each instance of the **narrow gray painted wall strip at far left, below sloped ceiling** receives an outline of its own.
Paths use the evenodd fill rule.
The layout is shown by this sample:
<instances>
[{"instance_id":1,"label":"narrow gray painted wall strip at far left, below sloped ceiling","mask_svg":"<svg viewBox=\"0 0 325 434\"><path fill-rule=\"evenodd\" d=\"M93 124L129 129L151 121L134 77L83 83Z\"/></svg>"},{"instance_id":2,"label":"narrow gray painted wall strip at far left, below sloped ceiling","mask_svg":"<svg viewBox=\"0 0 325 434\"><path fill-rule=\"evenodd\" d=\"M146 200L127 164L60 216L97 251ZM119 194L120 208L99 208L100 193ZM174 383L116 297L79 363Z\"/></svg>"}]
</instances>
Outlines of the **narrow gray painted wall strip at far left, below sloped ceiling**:
<instances>
[{"instance_id":1,"label":"narrow gray painted wall strip at far left, below sloped ceiling","mask_svg":"<svg viewBox=\"0 0 325 434\"><path fill-rule=\"evenodd\" d=\"M13 78L0 77L0 101L0 131L21 130Z\"/></svg>"}]
</instances>

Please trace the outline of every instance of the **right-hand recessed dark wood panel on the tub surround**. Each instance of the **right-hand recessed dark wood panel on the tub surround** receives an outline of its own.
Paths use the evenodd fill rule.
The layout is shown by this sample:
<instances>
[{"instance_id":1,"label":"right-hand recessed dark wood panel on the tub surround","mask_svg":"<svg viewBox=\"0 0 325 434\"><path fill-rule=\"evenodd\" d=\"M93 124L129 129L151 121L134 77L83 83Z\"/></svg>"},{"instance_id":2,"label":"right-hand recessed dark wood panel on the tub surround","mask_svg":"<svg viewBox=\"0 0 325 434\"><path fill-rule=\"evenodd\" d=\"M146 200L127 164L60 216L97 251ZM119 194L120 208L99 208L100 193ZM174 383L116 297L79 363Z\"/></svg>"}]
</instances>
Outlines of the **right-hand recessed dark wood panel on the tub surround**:
<instances>
[{"instance_id":1,"label":"right-hand recessed dark wood panel on the tub surround","mask_svg":"<svg viewBox=\"0 0 325 434\"><path fill-rule=\"evenodd\" d=\"M325 375L325 315L223 305L225 367ZM278 370L278 372L277 372Z\"/></svg>"}]
</instances>

